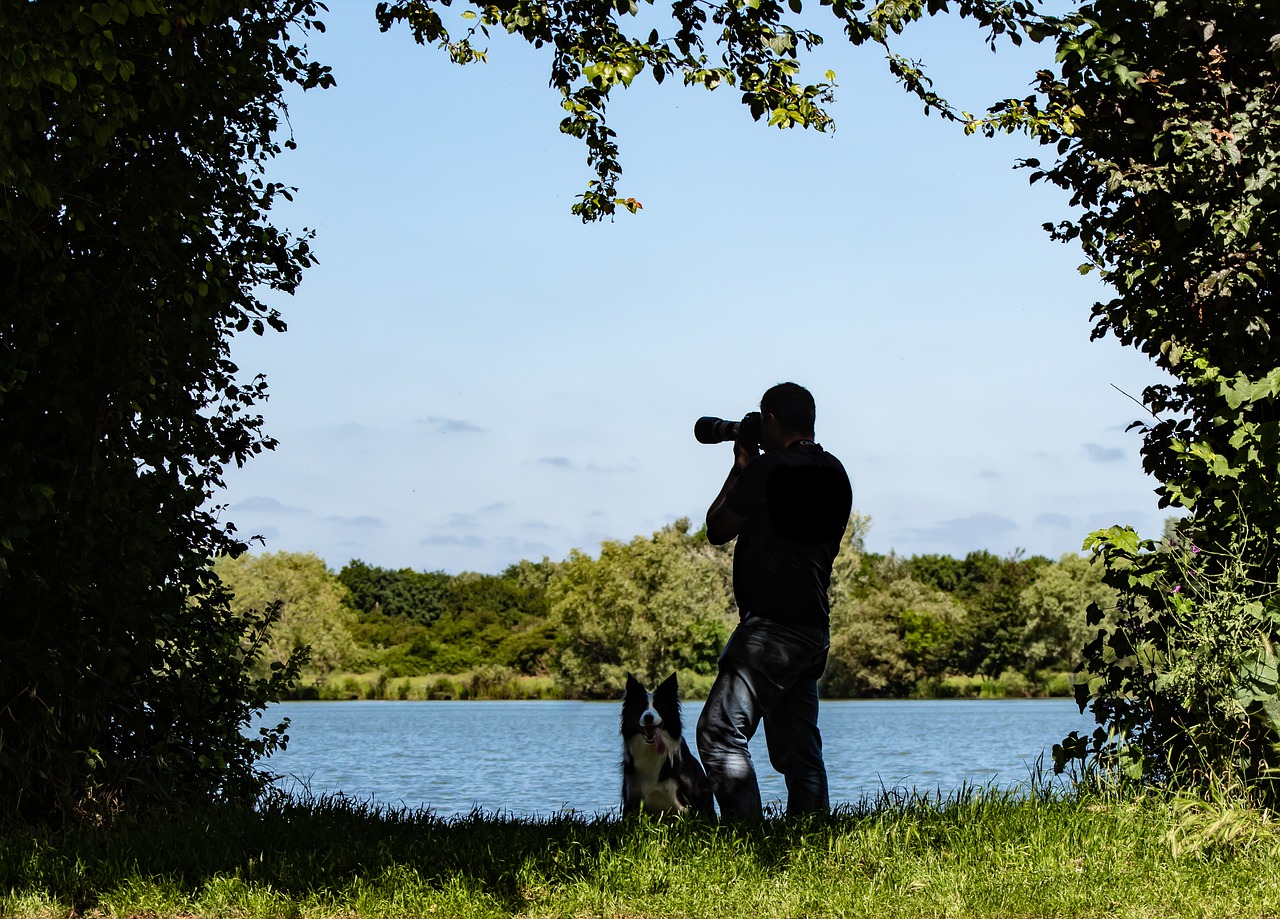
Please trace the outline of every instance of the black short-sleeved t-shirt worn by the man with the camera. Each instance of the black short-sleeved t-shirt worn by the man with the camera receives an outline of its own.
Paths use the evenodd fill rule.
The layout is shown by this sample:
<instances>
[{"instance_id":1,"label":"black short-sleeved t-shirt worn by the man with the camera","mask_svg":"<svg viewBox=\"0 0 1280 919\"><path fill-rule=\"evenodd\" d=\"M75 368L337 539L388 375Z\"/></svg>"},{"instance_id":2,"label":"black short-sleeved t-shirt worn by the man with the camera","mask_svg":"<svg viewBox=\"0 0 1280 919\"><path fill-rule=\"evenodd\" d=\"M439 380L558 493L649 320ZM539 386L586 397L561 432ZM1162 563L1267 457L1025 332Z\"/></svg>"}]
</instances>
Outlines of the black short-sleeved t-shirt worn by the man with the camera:
<instances>
[{"instance_id":1,"label":"black short-sleeved t-shirt worn by the man with the camera","mask_svg":"<svg viewBox=\"0 0 1280 919\"><path fill-rule=\"evenodd\" d=\"M854 493L845 467L818 444L763 453L726 497L746 517L733 549L733 596L742 616L827 627L831 564Z\"/></svg>"}]
</instances>

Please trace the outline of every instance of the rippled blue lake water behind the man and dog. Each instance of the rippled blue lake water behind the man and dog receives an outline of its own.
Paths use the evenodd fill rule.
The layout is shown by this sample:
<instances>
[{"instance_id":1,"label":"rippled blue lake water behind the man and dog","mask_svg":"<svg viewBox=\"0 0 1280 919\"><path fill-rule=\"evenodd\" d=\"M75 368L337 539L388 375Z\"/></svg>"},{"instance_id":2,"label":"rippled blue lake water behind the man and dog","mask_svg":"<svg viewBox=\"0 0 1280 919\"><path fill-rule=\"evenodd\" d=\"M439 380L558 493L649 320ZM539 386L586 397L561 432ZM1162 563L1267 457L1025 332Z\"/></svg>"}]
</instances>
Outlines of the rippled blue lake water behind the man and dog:
<instances>
[{"instance_id":1,"label":"rippled blue lake water behind the man and dog","mask_svg":"<svg viewBox=\"0 0 1280 919\"><path fill-rule=\"evenodd\" d=\"M686 733L701 703L685 703ZM617 703L283 703L289 746L268 760L285 788L429 808L518 815L604 813L621 794ZM1025 785L1037 756L1071 730L1092 730L1068 699L824 701L819 724L831 800L881 788L947 794L961 785ZM692 740L690 737L690 745ZM751 741L765 804L786 786Z\"/></svg>"}]
</instances>

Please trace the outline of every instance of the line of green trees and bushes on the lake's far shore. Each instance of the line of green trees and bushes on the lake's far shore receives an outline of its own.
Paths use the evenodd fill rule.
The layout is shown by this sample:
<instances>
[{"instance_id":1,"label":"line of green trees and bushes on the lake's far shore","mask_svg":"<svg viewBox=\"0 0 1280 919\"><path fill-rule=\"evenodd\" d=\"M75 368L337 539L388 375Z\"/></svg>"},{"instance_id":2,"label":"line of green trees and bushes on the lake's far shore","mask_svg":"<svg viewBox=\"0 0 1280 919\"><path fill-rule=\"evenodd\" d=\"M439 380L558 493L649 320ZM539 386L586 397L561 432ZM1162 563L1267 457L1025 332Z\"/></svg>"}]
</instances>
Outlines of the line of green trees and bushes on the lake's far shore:
<instances>
[{"instance_id":1,"label":"line of green trees and bushes on the lake's far shore","mask_svg":"<svg viewBox=\"0 0 1280 919\"><path fill-rule=\"evenodd\" d=\"M1080 555L865 552L855 515L836 561L828 698L1044 695L1112 599ZM500 575L379 568L333 573L314 554L220 558L234 605L280 602L262 667L308 645L302 698L616 698L626 673L681 675L705 692L737 611L732 554L678 520L598 557Z\"/></svg>"}]
</instances>

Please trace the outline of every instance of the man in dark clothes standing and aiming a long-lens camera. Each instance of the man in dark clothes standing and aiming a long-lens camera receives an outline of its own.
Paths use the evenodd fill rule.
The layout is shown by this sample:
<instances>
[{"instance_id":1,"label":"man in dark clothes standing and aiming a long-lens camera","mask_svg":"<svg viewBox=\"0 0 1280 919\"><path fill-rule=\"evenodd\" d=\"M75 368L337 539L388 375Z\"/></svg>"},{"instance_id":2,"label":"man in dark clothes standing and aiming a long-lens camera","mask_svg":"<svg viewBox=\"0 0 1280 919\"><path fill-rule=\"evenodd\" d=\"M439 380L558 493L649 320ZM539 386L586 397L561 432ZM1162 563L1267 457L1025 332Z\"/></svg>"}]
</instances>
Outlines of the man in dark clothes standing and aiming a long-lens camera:
<instances>
[{"instance_id":1,"label":"man in dark clothes standing and aiming a long-lens camera","mask_svg":"<svg viewBox=\"0 0 1280 919\"><path fill-rule=\"evenodd\" d=\"M814 440L814 401L795 383L760 399L760 453L733 444L733 467L707 511L707 536L735 536L740 622L719 659L698 753L724 819L762 818L748 742L764 722L769 762L787 783L787 814L827 813L818 678L831 646L827 587L852 509L845 467ZM744 425L745 428L745 425Z\"/></svg>"}]
</instances>

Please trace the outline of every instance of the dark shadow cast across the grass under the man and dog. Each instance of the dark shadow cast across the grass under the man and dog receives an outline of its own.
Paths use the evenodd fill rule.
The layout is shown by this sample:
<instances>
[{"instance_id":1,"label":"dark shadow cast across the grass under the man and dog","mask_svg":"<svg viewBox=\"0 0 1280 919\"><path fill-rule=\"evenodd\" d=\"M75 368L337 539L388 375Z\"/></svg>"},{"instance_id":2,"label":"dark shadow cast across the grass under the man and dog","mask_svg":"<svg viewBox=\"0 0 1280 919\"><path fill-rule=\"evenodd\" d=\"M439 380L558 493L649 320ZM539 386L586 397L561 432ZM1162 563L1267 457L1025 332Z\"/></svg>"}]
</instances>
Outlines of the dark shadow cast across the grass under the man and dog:
<instances>
[{"instance_id":1,"label":"dark shadow cast across the grass under the man and dog","mask_svg":"<svg viewBox=\"0 0 1280 919\"><path fill-rule=\"evenodd\" d=\"M1023 799L1025 800L1025 799ZM956 809L1012 805L1014 796L969 788L942 796L886 790L829 817L723 826L645 815L522 818L474 811L440 818L342 796L271 795L256 809L218 808L147 815L109 827L14 831L0 846L0 890L41 891L84 913L114 892L154 886L196 900L210 890L271 891L294 902L367 896L392 902L406 891L479 895L522 911L540 890L662 874L692 865L714 882L717 865L760 875L785 872L796 849L869 820L909 817L916 832L954 824ZM658 883L657 881L654 882ZM109 910L110 911L110 910Z\"/></svg>"}]
</instances>

